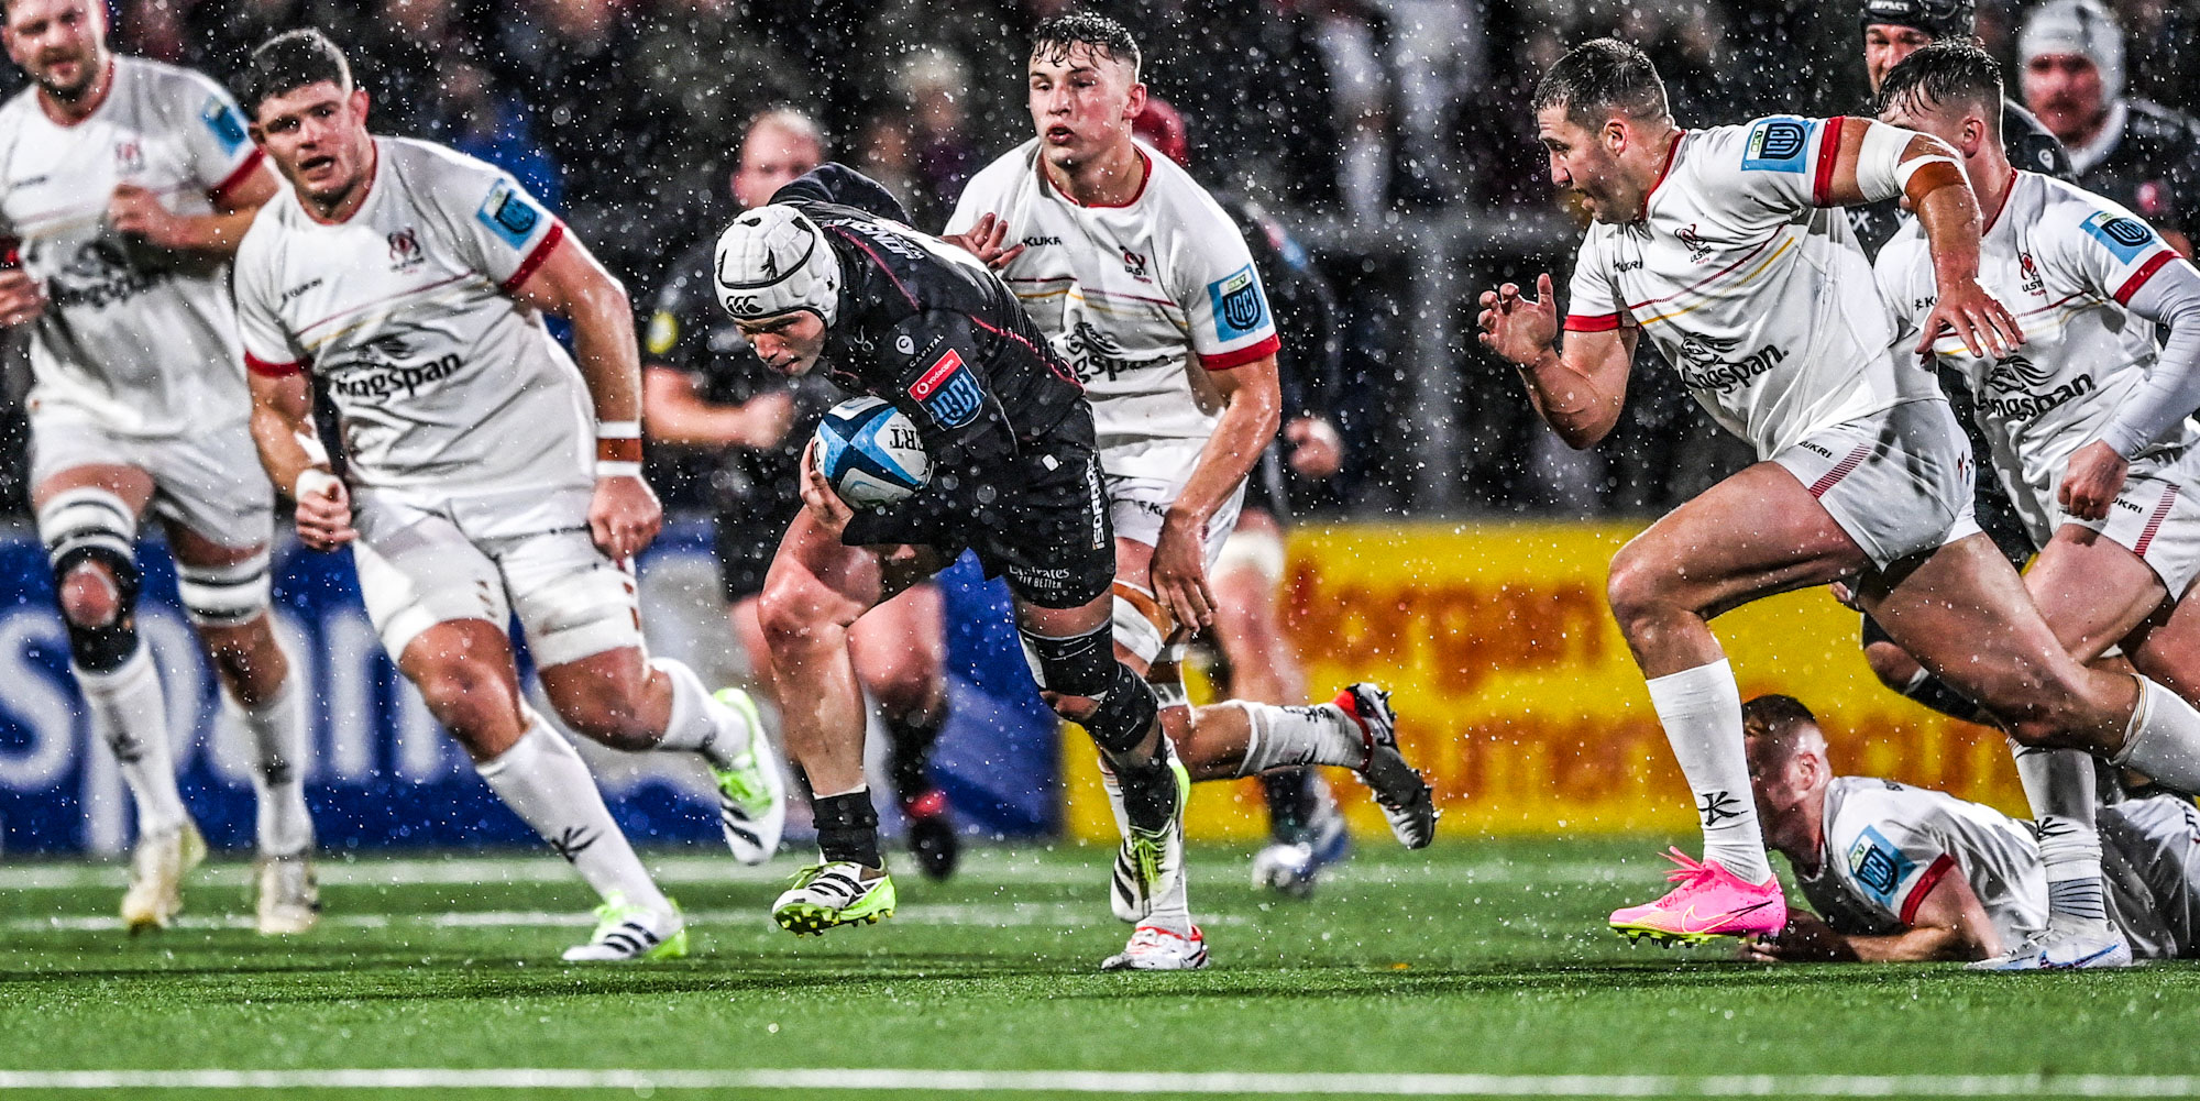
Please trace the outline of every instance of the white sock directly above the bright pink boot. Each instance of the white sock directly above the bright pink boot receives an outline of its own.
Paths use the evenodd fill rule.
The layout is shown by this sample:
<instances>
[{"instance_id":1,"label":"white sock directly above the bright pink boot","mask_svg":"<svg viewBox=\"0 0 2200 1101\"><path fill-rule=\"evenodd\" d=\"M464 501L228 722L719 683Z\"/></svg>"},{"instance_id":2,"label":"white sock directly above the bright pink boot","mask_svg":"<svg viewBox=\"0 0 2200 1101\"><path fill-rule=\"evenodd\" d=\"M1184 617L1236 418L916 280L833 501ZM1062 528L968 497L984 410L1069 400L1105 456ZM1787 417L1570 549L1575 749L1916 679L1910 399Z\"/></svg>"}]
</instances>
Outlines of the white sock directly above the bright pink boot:
<instances>
[{"instance_id":1,"label":"white sock directly above the bright pink boot","mask_svg":"<svg viewBox=\"0 0 2200 1101\"><path fill-rule=\"evenodd\" d=\"M1749 791L1749 755L1742 751L1742 689L1734 665L1709 665L1650 678L1650 705L1665 724L1665 742L1681 760L1681 775L1696 793L1703 821L1703 859L1727 865L1749 883L1773 876L1758 832L1758 802Z\"/></svg>"}]
</instances>

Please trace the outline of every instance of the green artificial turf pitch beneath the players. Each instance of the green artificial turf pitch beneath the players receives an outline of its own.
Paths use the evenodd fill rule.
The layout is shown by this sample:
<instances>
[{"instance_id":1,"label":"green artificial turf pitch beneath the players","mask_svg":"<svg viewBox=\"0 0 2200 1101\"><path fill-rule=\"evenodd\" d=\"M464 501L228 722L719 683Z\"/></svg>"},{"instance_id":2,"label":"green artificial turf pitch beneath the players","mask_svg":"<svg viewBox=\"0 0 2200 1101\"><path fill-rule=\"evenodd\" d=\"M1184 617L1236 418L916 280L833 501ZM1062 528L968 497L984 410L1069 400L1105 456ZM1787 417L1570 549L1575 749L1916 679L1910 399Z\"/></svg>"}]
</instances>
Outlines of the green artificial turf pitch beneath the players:
<instances>
[{"instance_id":1,"label":"green artificial turf pitch beneath the players","mask_svg":"<svg viewBox=\"0 0 2200 1101\"><path fill-rule=\"evenodd\" d=\"M557 960L585 927L546 923L587 898L532 854L447 865L480 883L420 883L422 861L330 865L328 923L295 940L229 927L249 916L235 868L187 894L194 925L132 940L77 920L112 914L114 885L57 883L70 865L35 865L51 881L24 885L11 865L0 1072L2200 1075L2200 969L2182 962L1980 975L1628 947L1602 918L1663 887L1648 841L1448 839L1412 854L1364 841L1305 903L1256 892L1243 850L1195 850L1212 969L1133 975L1096 969L1126 934L1107 914L1107 857L977 850L944 885L902 872L893 920L794 938L766 918L777 881L684 854L669 890L697 916L693 953L625 967ZM499 868L532 881L486 879Z\"/></svg>"}]
</instances>

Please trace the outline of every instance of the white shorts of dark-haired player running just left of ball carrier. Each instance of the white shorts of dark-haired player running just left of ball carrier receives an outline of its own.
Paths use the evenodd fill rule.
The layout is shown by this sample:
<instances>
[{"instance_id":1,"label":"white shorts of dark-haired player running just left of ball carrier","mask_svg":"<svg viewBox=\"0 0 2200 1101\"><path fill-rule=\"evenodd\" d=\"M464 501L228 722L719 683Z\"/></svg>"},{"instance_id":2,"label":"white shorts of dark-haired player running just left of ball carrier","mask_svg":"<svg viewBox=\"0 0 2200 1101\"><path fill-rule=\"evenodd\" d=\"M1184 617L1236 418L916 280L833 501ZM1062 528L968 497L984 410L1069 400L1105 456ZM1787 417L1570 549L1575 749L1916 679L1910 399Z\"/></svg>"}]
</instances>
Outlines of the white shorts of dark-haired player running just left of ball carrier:
<instances>
[{"instance_id":1,"label":"white shorts of dark-haired player running just left of ball carrier","mask_svg":"<svg viewBox=\"0 0 2200 1101\"><path fill-rule=\"evenodd\" d=\"M596 550L590 495L354 491L359 592L389 656L436 623L513 614L541 667L642 645L634 575Z\"/></svg>"}]
</instances>

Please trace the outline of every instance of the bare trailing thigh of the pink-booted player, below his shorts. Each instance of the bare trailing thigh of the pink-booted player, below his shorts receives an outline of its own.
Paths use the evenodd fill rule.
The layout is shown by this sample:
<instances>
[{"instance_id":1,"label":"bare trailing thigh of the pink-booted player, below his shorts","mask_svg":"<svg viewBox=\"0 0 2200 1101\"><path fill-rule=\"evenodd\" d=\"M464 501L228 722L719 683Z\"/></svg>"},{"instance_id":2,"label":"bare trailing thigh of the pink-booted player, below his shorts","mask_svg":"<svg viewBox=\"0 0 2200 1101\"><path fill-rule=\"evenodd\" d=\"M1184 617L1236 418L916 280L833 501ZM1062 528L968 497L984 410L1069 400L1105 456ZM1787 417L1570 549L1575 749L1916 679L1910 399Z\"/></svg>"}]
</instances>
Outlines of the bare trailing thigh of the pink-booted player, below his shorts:
<instances>
[{"instance_id":1,"label":"bare trailing thigh of the pink-booted player, below his shorts","mask_svg":"<svg viewBox=\"0 0 2200 1101\"><path fill-rule=\"evenodd\" d=\"M2081 691L2079 665L1984 533L1868 577L1857 599L1896 645L1989 709Z\"/></svg>"}]
</instances>

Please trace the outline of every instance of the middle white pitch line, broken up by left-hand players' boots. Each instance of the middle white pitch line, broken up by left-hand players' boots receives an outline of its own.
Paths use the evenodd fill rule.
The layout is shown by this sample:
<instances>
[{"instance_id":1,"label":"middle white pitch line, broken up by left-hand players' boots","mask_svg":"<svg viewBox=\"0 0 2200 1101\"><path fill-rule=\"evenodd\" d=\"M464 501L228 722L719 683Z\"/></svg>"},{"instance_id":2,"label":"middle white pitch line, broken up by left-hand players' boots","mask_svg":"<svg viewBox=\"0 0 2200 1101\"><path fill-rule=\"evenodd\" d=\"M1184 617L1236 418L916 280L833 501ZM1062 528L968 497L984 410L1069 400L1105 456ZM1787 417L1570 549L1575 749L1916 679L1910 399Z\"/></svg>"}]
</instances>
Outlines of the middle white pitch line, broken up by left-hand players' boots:
<instances>
[{"instance_id":1,"label":"middle white pitch line, broken up by left-hand players' boots","mask_svg":"<svg viewBox=\"0 0 2200 1101\"><path fill-rule=\"evenodd\" d=\"M702 925L757 925L772 927L763 909L691 909L691 927ZM1113 925L1091 905L1078 903L924 903L904 905L889 918L895 925ZM334 929L389 929L396 925L427 925L431 929L585 929L596 918L583 912L552 909L460 909L453 914L323 914L321 925ZM1219 914L1203 925L1250 925L1243 914ZM244 914L185 914L172 923L176 929L251 929L253 918ZM121 918L106 914L55 914L46 918L9 918L0 929L11 934L53 931L121 931Z\"/></svg>"}]
</instances>

